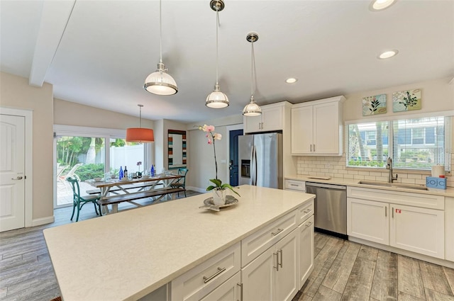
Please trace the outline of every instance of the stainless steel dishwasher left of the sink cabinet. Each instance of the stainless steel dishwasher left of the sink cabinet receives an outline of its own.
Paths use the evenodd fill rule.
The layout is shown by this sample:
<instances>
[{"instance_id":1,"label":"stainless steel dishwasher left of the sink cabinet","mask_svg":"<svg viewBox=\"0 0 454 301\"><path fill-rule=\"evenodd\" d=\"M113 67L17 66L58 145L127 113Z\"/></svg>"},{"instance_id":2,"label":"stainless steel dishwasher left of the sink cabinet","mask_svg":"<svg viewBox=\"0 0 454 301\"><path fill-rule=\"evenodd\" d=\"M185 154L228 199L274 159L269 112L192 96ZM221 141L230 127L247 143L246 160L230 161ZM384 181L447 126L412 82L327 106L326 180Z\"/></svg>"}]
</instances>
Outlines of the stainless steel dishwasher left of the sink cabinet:
<instances>
[{"instance_id":1,"label":"stainless steel dishwasher left of the sink cabinet","mask_svg":"<svg viewBox=\"0 0 454 301\"><path fill-rule=\"evenodd\" d=\"M306 182L306 193L316 195L316 230L347 239L347 187Z\"/></svg>"}]
</instances>

